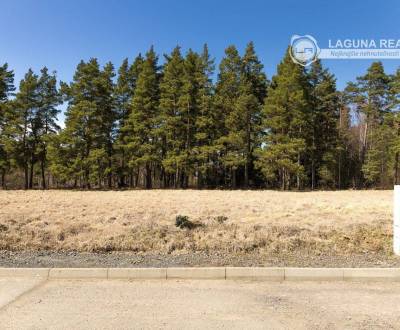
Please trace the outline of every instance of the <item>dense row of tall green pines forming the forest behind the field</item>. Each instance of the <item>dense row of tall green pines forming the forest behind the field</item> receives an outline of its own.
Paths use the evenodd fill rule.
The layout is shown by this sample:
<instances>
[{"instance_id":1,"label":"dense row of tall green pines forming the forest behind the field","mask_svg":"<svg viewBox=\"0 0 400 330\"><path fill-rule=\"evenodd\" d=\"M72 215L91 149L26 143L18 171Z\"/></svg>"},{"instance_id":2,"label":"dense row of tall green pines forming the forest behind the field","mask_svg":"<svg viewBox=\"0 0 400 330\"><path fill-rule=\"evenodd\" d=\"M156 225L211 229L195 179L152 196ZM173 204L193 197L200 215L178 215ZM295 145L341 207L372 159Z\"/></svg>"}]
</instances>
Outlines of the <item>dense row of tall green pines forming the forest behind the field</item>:
<instances>
[{"instance_id":1,"label":"dense row of tall green pines forming the forest behind the field","mask_svg":"<svg viewBox=\"0 0 400 330\"><path fill-rule=\"evenodd\" d=\"M12 188L385 188L399 182L400 69L374 62L338 91L287 50L269 80L253 43L215 72L201 52L153 48L116 69L45 67L15 87L0 66L0 184ZM64 127L57 117L66 104Z\"/></svg>"}]
</instances>

